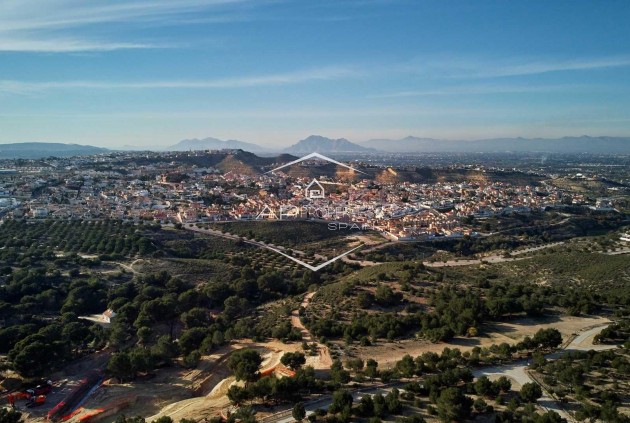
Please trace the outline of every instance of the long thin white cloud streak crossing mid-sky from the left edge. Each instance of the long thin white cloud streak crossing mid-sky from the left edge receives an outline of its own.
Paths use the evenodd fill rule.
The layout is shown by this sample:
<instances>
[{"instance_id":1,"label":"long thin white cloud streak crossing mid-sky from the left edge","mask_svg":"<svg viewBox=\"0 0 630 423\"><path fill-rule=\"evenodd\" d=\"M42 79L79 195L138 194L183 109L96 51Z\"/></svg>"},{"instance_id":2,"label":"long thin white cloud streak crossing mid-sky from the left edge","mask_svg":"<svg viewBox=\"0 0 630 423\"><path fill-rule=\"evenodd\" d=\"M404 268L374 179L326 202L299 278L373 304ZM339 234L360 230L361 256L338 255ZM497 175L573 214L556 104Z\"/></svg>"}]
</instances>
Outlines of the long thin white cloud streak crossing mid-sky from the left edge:
<instances>
[{"instance_id":1,"label":"long thin white cloud streak crossing mid-sky from the left edge","mask_svg":"<svg viewBox=\"0 0 630 423\"><path fill-rule=\"evenodd\" d=\"M0 92L32 94L50 90L67 89L226 89L273 85L294 85L312 81L326 81L360 76L357 70L348 67L324 67L287 73L240 76L208 80L171 81L16 81L0 80Z\"/></svg>"}]
</instances>

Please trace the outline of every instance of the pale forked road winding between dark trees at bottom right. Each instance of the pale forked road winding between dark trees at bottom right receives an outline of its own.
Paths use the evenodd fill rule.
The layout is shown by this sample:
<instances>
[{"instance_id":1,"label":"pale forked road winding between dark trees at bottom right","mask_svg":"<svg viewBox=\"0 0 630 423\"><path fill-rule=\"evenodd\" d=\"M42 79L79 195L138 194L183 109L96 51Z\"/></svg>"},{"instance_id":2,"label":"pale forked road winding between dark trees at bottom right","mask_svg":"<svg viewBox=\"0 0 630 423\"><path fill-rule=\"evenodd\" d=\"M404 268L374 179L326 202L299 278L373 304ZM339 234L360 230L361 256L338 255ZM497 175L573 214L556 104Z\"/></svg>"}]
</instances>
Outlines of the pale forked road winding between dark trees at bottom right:
<instances>
[{"instance_id":1,"label":"pale forked road winding between dark trees at bottom right","mask_svg":"<svg viewBox=\"0 0 630 423\"><path fill-rule=\"evenodd\" d=\"M545 357L550 359L557 359L562 357L563 355L572 352L572 351L604 351L613 348L617 348L616 345L594 345L593 337L600 333L605 327L607 327L610 323L606 323L604 325L598 325L594 327L585 328L580 331L580 333L569 342L564 349L557 351L555 353L547 354ZM520 389L521 386L525 383L534 382L537 383L529 374L527 360L519 360L515 363L510 363L501 366L490 366L484 367L480 369L475 369L473 371L473 375L475 377L479 376L488 376L492 378L497 378L500 376L505 376L518 384ZM543 407L545 410L553 410L558 413L562 418L566 419L567 422L575 422L576 420L573 418L571 414L565 411L562 408L562 405L556 401L549 393L543 388L543 396L538 400L538 405Z\"/></svg>"}]
</instances>

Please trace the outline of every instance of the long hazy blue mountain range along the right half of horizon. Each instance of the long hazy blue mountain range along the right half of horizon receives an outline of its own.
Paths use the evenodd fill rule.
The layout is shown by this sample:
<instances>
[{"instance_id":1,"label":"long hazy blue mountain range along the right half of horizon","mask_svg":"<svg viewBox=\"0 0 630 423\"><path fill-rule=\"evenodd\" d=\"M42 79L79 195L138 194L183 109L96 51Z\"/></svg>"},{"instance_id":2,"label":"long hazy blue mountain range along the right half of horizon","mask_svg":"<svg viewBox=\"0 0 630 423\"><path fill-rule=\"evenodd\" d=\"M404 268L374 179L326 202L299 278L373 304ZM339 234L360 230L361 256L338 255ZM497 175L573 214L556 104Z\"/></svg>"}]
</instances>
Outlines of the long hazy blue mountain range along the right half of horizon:
<instances>
[{"instance_id":1,"label":"long hazy blue mountain range along the right half of horizon","mask_svg":"<svg viewBox=\"0 0 630 423\"><path fill-rule=\"evenodd\" d=\"M630 137L495 138L452 141L406 137L400 140L372 139L361 145L391 153L603 153L630 154Z\"/></svg>"}]
</instances>

